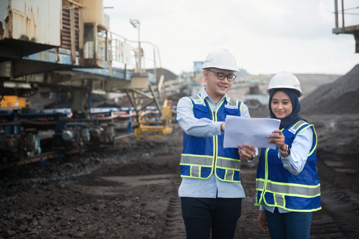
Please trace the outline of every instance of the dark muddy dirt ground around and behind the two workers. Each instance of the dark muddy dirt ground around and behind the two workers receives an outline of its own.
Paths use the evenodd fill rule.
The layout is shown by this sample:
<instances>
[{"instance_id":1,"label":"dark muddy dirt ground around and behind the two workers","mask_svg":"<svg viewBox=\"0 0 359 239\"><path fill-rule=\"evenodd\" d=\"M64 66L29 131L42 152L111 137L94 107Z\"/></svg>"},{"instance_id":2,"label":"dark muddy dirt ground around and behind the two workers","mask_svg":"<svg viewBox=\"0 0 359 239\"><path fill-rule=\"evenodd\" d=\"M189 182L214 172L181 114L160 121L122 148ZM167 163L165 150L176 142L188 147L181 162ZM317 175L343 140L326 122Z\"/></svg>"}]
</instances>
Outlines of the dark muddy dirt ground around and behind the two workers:
<instances>
[{"instance_id":1,"label":"dark muddy dirt ground around and behind the two workers","mask_svg":"<svg viewBox=\"0 0 359 239\"><path fill-rule=\"evenodd\" d=\"M255 116L255 115L252 115ZM322 210L311 238L358 238L359 115L311 115L318 134ZM182 130L163 139L0 171L0 238L186 238L178 186ZM269 238L257 228L256 162L242 163L246 199L235 238Z\"/></svg>"}]
</instances>

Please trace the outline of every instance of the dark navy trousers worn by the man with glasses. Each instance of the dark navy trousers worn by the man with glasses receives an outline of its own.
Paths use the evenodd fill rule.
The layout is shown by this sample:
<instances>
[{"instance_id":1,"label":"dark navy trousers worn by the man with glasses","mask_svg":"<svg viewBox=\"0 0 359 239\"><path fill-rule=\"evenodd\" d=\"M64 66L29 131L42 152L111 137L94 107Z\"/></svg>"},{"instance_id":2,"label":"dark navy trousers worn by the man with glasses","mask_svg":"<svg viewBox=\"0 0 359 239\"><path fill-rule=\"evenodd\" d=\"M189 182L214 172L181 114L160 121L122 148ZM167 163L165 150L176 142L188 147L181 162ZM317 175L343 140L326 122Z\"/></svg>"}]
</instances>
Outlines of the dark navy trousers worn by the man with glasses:
<instances>
[{"instance_id":1,"label":"dark navy trousers worn by the man with glasses","mask_svg":"<svg viewBox=\"0 0 359 239\"><path fill-rule=\"evenodd\" d=\"M242 198L181 197L187 239L233 239Z\"/></svg>"}]
</instances>

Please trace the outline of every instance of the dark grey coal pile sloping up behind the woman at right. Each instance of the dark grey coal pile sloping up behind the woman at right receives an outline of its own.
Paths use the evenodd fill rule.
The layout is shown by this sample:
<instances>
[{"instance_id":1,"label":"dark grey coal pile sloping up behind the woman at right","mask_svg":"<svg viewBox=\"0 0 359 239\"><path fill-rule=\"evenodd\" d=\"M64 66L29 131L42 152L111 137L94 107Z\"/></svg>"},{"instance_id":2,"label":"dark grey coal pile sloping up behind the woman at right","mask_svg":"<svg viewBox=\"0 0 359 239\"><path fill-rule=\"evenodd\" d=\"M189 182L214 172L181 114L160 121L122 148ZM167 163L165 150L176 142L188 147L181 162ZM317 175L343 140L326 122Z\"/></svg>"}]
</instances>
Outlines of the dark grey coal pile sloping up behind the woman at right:
<instances>
[{"instance_id":1,"label":"dark grey coal pile sloping up behind the woman at right","mask_svg":"<svg viewBox=\"0 0 359 239\"><path fill-rule=\"evenodd\" d=\"M359 112L359 64L333 83L318 87L303 99L302 113L351 114Z\"/></svg>"}]
</instances>

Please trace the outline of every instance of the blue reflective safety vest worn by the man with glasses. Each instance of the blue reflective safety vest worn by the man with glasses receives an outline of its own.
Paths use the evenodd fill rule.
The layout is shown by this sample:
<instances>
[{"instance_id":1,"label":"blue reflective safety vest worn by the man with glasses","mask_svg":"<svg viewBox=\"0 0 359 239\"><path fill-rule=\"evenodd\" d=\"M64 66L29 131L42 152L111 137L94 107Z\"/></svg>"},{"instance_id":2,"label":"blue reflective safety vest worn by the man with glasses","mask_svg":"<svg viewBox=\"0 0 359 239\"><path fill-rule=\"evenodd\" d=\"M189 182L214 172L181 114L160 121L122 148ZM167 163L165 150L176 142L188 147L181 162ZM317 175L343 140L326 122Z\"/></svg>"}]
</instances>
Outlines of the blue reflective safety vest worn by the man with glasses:
<instances>
[{"instance_id":1,"label":"blue reflective safety vest worn by the man with glasses","mask_svg":"<svg viewBox=\"0 0 359 239\"><path fill-rule=\"evenodd\" d=\"M208 100L200 95L189 97L197 119L225 121L227 115L241 116L242 102L224 98L213 111ZM224 133L213 137L195 137L183 132L183 151L181 155L181 177L208 179L212 173L226 182L241 182L239 171L241 160L238 148L223 148Z\"/></svg>"}]
</instances>

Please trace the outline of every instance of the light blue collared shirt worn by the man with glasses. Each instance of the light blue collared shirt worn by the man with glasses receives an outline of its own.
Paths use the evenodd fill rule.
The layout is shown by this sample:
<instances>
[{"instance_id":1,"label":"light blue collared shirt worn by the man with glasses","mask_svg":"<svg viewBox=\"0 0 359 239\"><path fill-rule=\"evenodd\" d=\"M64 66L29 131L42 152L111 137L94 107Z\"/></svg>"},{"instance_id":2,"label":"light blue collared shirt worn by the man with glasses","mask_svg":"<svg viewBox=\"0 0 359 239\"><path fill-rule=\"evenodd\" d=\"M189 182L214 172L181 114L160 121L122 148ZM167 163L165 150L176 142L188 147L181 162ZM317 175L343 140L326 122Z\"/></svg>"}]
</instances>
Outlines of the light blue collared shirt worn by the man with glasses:
<instances>
[{"instance_id":1,"label":"light blue collared shirt worn by the man with glasses","mask_svg":"<svg viewBox=\"0 0 359 239\"><path fill-rule=\"evenodd\" d=\"M222 96L229 102L227 94ZM214 101L208 96L206 89L201 92L201 98L207 99L212 109L217 109ZM245 118L251 118L248 112L248 107L242 103L241 116ZM192 102L188 97L182 97L177 104L177 121L181 128L188 135L196 137L212 137L214 135L221 134L221 121L212 121L207 118L197 119L193 114ZM258 150L256 149L256 154ZM248 161L251 162L251 161ZM208 179L196 179L196 178L182 178L180 188L178 188L178 196L180 197L246 197L241 183L224 182L220 181L214 174Z\"/></svg>"}]
</instances>

